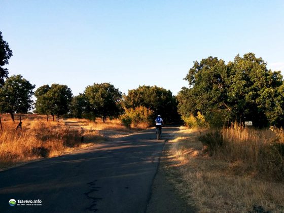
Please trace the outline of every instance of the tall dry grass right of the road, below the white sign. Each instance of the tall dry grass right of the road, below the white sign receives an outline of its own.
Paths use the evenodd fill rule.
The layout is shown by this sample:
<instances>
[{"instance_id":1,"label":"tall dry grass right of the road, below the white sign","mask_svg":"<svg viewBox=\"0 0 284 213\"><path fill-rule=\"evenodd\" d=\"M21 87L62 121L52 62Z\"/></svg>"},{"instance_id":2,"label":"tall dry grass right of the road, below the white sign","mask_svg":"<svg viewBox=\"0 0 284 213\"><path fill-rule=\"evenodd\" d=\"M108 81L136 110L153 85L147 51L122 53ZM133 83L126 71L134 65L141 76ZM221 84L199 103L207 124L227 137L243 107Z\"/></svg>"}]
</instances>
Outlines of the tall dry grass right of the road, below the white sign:
<instances>
[{"instance_id":1,"label":"tall dry grass right of the road, below the white sign","mask_svg":"<svg viewBox=\"0 0 284 213\"><path fill-rule=\"evenodd\" d=\"M235 162L240 173L284 181L284 131L234 126L209 130L200 140L215 159Z\"/></svg>"}]
</instances>

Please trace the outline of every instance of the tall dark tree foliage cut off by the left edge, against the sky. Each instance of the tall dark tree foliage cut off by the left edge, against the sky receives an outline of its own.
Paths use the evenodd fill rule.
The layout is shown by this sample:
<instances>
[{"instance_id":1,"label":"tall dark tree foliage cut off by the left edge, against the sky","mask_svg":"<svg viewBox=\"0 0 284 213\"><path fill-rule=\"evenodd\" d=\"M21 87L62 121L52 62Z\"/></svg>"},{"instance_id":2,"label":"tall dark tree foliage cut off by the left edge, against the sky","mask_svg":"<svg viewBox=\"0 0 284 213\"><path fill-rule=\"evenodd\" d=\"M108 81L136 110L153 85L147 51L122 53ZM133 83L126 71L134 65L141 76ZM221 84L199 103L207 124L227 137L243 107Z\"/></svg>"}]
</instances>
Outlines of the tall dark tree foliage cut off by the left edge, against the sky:
<instances>
[{"instance_id":1,"label":"tall dark tree foliage cut off by the left edge, against the sky","mask_svg":"<svg viewBox=\"0 0 284 213\"><path fill-rule=\"evenodd\" d=\"M3 66L9 64L9 59L13 55L13 51L9 48L6 41L3 40L2 32L0 31L0 86L4 84L4 78L8 78L8 69Z\"/></svg>"}]
</instances>

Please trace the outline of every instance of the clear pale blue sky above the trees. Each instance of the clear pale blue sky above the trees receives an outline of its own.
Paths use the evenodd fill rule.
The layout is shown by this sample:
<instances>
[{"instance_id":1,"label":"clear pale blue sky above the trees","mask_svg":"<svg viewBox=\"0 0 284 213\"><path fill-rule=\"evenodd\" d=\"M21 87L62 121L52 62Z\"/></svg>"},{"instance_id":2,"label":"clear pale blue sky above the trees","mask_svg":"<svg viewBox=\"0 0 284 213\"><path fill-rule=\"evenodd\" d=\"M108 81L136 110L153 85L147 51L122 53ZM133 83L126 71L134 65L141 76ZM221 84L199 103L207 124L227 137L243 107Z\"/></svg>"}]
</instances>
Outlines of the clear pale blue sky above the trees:
<instances>
[{"instance_id":1,"label":"clear pale blue sky above the trees","mask_svg":"<svg viewBox=\"0 0 284 213\"><path fill-rule=\"evenodd\" d=\"M193 61L256 53L284 71L284 1L0 0L12 74L75 95L110 82L120 91L157 85L177 94Z\"/></svg>"}]
</instances>

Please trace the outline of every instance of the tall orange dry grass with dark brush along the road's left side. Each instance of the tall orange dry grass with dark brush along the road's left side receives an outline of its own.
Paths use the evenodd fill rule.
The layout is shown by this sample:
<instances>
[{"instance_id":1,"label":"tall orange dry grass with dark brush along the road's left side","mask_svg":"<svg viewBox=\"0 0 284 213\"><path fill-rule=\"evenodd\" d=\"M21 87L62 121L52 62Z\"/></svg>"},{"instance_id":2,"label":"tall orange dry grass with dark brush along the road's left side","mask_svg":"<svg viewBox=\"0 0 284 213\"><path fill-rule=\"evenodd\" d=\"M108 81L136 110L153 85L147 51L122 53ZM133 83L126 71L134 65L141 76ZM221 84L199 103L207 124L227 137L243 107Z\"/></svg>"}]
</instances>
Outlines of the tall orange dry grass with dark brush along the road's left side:
<instances>
[{"instance_id":1,"label":"tall orange dry grass with dark brush along the road's left side","mask_svg":"<svg viewBox=\"0 0 284 213\"><path fill-rule=\"evenodd\" d=\"M70 128L57 122L23 122L23 129L16 130L14 122L4 122L0 132L0 167L42 157L53 157L75 148L88 146L84 129ZM93 141L101 136L93 132ZM90 145L90 144L89 144Z\"/></svg>"}]
</instances>

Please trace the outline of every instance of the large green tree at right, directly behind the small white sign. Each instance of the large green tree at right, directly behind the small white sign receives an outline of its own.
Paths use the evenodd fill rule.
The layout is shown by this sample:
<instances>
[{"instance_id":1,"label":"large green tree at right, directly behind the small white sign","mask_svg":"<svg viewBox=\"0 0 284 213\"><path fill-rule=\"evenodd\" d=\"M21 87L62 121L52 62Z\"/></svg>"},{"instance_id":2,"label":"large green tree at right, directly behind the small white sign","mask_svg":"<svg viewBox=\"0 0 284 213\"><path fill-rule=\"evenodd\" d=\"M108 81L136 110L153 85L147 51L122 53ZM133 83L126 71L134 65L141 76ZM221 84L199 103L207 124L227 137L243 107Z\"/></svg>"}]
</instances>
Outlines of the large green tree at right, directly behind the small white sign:
<instances>
[{"instance_id":1,"label":"large green tree at right, directly behind the small white sign","mask_svg":"<svg viewBox=\"0 0 284 213\"><path fill-rule=\"evenodd\" d=\"M228 104L232 117L241 122L253 121L256 126L273 123L268 115L275 109L264 102L275 104L273 98L282 85L280 72L266 68L266 62L254 53L237 55L228 67ZM270 95L268 95L270 94ZM274 102L274 103L273 103Z\"/></svg>"}]
</instances>

